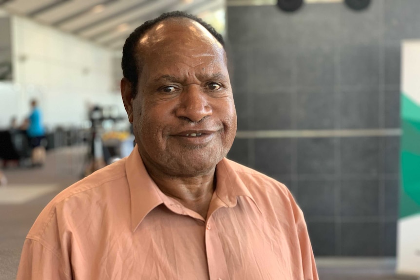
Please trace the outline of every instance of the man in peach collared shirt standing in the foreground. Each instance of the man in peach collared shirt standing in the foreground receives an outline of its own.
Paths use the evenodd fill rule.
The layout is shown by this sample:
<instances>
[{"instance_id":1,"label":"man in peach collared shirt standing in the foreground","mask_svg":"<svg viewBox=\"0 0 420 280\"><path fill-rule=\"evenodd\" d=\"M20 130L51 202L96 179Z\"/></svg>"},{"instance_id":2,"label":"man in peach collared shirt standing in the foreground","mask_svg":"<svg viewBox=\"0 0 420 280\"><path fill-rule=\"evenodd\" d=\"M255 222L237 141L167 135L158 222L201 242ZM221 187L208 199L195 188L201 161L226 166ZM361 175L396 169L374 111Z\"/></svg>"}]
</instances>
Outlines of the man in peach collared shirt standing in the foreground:
<instances>
[{"instance_id":1,"label":"man in peach collared shirt standing in the foreground","mask_svg":"<svg viewBox=\"0 0 420 280\"><path fill-rule=\"evenodd\" d=\"M222 37L164 14L126 40L122 68L137 145L43 210L18 279L318 279L287 188L225 158L236 113Z\"/></svg>"}]
</instances>

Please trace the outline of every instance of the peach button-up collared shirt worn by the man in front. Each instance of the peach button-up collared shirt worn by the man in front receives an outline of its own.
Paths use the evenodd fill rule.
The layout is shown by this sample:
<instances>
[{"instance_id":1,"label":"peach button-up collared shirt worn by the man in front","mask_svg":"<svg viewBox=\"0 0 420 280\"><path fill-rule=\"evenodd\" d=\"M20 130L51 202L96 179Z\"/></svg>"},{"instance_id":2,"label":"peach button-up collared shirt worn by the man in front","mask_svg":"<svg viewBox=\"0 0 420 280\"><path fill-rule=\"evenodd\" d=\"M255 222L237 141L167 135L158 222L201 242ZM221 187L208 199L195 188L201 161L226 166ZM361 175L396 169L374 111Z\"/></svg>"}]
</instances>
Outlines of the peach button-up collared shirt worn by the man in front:
<instances>
[{"instance_id":1,"label":"peach button-up collared shirt worn by the man in front","mask_svg":"<svg viewBox=\"0 0 420 280\"><path fill-rule=\"evenodd\" d=\"M281 183L223 159L207 220L166 196L137 148L59 193L18 280L318 280L302 211Z\"/></svg>"}]
</instances>

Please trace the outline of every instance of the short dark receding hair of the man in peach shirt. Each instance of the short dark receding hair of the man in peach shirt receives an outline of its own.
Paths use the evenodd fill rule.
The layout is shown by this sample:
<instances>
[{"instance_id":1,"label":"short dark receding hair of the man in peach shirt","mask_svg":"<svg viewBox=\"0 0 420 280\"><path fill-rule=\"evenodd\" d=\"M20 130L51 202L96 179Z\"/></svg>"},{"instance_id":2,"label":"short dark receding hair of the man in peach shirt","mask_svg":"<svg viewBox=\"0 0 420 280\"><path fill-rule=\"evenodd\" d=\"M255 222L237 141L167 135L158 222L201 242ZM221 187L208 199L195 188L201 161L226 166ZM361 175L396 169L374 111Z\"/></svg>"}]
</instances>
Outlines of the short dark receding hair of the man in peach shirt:
<instances>
[{"instance_id":1,"label":"short dark receding hair of the man in peach shirt","mask_svg":"<svg viewBox=\"0 0 420 280\"><path fill-rule=\"evenodd\" d=\"M225 42L223 41L222 35L220 35L216 30L214 30L214 28L210 24L206 23L202 19L199 19L185 12L173 11L169 13L164 13L155 19L146 21L145 23L137 27L132 34L130 34L130 36L125 40L124 47L122 49L122 74L125 78L127 78L130 81L132 85L133 98L135 97L137 92L138 70L141 69L140 67L138 67L139 65L137 65L136 58L134 55L137 42L146 33L146 31L153 27L153 25L165 19L171 18L187 18L200 23L204 28L206 28L210 32L211 35L213 35L217 39L217 41L220 42L220 44L222 44L223 47L225 46Z\"/></svg>"}]
</instances>

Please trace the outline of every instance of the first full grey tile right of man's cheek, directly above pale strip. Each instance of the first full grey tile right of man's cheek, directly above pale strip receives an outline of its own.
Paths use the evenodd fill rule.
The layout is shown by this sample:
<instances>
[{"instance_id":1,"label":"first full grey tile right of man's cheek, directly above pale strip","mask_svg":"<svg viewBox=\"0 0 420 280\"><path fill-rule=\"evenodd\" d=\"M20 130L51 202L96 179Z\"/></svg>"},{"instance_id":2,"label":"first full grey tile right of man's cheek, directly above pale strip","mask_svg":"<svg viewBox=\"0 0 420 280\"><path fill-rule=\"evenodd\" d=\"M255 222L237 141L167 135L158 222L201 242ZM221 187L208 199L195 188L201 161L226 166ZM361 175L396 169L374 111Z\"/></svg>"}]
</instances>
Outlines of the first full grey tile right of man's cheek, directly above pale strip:
<instances>
[{"instance_id":1,"label":"first full grey tile right of man's cheek, directly above pale strip","mask_svg":"<svg viewBox=\"0 0 420 280\"><path fill-rule=\"evenodd\" d=\"M281 130L291 128L291 93L264 93L253 96L254 119L251 129Z\"/></svg>"}]
</instances>

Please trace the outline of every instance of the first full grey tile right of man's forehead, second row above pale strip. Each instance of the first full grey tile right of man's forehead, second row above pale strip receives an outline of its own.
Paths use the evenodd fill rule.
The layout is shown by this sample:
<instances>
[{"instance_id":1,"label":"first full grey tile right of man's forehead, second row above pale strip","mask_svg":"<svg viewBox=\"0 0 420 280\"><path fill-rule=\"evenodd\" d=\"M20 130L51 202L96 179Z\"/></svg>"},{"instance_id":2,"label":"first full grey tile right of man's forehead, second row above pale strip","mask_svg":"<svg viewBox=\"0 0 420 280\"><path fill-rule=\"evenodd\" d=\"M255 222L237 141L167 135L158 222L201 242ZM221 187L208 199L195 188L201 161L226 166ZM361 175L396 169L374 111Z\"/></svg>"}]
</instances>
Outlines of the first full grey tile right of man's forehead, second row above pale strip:
<instances>
[{"instance_id":1,"label":"first full grey tile right of man's forehead, second row above pale strip","mask_svg":"<svg viewBox=\"0 0 420 280\"><path fill-rule=\"evenodd\" d=\"M252 81L256 93L276 92L291 86L292 51L288 44L254 45Z\"/></svg>"}]
</instances>

